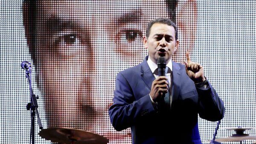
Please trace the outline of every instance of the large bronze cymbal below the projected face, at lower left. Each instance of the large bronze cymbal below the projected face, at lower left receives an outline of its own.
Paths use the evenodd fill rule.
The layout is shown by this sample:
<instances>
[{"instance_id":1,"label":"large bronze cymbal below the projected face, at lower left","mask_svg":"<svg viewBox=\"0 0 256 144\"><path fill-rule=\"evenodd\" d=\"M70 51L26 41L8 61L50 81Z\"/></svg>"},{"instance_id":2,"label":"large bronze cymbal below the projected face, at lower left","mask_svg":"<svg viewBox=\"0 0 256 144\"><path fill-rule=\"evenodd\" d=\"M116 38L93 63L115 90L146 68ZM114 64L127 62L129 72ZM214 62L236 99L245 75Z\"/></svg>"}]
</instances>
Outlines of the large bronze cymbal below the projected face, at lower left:
<instances>
[{"instance_id":1,"label":"large bronze cymbal below the projected face, at lower left","mask_svg":"<svg viewBox=\"0 0 256 144\"><path fill-rule=\"evenodd\" d=\"M84 130L50 127L38 133L42 138L65 144L107 144L108 139L95 133Z\"/></svg>"}]
</instances>

